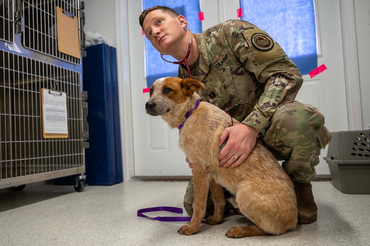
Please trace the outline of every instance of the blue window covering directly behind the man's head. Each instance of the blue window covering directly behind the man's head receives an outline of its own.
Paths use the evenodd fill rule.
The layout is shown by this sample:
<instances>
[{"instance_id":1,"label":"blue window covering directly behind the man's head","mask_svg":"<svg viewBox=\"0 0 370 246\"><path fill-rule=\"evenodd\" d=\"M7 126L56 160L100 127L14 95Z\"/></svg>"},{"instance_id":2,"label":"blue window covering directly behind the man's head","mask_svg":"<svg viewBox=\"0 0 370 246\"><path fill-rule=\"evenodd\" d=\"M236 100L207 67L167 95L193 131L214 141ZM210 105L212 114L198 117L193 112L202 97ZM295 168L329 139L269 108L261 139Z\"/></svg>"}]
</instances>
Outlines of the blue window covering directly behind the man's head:
<instances>
[{"instance_id":1,"label":"blue window covering directly behind the man's head","mask_svg":"<svg viewBox=\"0 0 370 246\"><path fill-rule=\"evenodd\" d=\"M179 15L185 16L186 21L191 24L192 33L202 32L202 23L198 17L198 13L201 11L199 0L143 0L144 10L154 6L167 6L174 9ZM169 55L163 57L168 61L177 61ZM179 65L162 60L161 54L152 46L148 38L145 38L145 61L148 87L151 87L158 78L177 77Z\"/></svg>"}]
</instances>

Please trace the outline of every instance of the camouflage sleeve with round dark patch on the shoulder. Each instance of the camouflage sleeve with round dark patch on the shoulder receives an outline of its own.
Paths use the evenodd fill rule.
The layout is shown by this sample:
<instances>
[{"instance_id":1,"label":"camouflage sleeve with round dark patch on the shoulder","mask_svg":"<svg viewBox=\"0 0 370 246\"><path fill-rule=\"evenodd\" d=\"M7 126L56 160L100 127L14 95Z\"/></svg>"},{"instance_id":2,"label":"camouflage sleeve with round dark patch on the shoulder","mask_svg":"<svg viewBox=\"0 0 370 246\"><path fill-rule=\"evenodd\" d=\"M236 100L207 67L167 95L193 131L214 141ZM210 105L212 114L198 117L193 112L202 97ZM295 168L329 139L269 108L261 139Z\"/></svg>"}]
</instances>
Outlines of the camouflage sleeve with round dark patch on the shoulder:
<instances>
[{"instance_id":1,"label":"camouflage sleeve with round dark patch on the shoulder","mask_svg":"<svg viewBox=\"0 0 370 246\"><path fill-rule=\"evenodd\" d=\"M242 22L232 38L234 54L265 90L252 112L242 121L265 134L270 127L270 118L276 108L294 101L303 78L297 66L282 48L266 32L256 26Z\"/></svg>"}]
</instances>

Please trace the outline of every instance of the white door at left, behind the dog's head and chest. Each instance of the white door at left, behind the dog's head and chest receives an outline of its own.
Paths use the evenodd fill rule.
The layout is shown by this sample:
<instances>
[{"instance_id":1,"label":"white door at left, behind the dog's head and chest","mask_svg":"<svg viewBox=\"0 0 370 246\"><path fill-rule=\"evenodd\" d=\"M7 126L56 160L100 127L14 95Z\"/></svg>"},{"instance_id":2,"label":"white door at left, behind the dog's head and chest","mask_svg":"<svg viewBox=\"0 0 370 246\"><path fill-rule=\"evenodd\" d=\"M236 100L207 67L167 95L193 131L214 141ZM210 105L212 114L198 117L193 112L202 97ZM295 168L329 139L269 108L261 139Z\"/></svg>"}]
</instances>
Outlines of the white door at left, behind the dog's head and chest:
<instances>
[{"instance_id":1,"label":"white door at left, behind the dog's head and chest","mask_svg":"<svg viewBox=\"0 0 370 246\"><path fill-rule=\"evenodd\" d=\"M191 175L191 169L185 162L186 156L178 147L178 129L169 129L161 117L152 117L145 112L149 93L142 92L147 88L144 65L145 36L142 35L139 25L142 6L141 1L127 3L135 176Z\"/></svg>"}]
</instances>

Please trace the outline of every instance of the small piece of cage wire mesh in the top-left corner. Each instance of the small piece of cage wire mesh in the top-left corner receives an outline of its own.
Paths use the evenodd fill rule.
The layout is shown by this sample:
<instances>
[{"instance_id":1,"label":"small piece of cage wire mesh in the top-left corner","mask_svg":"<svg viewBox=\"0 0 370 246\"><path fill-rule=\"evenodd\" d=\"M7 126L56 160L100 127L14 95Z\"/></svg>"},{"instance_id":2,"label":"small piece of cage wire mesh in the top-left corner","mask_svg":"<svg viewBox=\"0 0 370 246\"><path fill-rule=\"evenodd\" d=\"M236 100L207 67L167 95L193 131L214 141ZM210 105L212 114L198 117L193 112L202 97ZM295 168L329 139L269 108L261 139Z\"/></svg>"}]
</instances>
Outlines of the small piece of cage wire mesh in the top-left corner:
<instances>
[{"instance_id":1,"label":"small piece of cage wire mesh in the top-left corner","mask_svg":"<svg viewBox=\"0 0 370 246\"><path fill-rule=\"evenodd\" d=\"M0 40L14 41L14 1L0 1Z\"/></svg>"}]
</instances>

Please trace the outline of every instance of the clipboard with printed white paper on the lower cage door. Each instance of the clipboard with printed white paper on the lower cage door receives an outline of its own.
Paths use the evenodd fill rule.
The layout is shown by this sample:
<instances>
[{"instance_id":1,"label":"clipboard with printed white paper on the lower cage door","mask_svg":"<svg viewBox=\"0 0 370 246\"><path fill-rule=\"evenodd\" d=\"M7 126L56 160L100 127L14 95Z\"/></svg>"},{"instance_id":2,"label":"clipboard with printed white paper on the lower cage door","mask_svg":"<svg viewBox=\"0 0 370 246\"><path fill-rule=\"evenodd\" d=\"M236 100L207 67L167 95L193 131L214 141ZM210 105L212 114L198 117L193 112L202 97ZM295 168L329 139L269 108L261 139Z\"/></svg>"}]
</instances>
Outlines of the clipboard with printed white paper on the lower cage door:
<instances>
[{"instance_id":1,"label":"clipboard with printed white paper on the lower cage door","mask_svg":"<svg viewBox=\"0 0 370 246\"><path fill-rule=\"evenodd\" d=\"M44 138L68 138L67 93L41 89Z\"/></svg>"}]
</instances>

